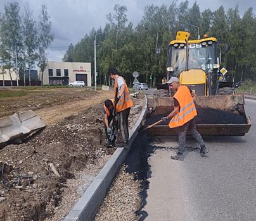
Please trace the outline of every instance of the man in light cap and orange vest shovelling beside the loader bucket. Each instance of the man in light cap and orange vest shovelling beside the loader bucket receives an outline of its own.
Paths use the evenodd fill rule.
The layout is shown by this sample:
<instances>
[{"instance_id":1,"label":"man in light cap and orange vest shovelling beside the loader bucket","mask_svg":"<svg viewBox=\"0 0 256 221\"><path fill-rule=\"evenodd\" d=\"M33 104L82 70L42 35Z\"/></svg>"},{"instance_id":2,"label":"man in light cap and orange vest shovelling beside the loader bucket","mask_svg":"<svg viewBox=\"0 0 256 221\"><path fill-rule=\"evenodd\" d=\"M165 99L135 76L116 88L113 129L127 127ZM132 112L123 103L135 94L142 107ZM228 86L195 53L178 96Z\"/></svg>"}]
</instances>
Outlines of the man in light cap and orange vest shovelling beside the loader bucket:
<instances>
[{"instance_id":1,"label":"man in light cap and orange vest shovelling beside the loader bucket","mask_svg":"<svg viewBox=\"0 0 256 221\"><path fill-rule=\"evenodd\" d=\"M174 94L174 111L169 116L162 117L163 121L169 121L170 128L179 128L179 150L176 155L171 156L172 160L184 160L183 153L185 152L186 133L190 129L193 138L199 143L201 156L208 153L205 147L202 136L196 131L195 116L197 115L194 100L195 92L184 85L180 85L179 79L176 77L170 78L167 83L170 89L176 91Z\"/></svg>"}]
</instances>

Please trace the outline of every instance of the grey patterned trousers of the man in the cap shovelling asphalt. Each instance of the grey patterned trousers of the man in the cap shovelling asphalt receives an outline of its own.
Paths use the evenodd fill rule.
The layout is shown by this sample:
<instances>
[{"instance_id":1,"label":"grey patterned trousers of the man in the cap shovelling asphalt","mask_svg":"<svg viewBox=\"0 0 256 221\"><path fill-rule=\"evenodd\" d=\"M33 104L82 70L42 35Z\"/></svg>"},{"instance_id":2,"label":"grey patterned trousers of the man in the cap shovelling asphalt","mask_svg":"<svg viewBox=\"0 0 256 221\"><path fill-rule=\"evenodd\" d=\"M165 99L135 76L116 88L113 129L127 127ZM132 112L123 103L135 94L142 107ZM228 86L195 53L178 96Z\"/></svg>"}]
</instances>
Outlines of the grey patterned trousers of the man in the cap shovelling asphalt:
<instances>
[{"instance_id":1,"label":"grey patterned trousers of the man in the cap shovelling asphalt","mask_svg":"<svg viewBox=\"0 0 256 221\"><path fill-rule=\"evenodd\" d=\"M186 133L188 129L191 131L193 138L195 138L195 140L199 143L200 147L205 146L202 136L196 130L196 122L194 117L190 121L186 122L186 124L179 127L179 153L185 152Z\"/></svg>"}]
</instances>

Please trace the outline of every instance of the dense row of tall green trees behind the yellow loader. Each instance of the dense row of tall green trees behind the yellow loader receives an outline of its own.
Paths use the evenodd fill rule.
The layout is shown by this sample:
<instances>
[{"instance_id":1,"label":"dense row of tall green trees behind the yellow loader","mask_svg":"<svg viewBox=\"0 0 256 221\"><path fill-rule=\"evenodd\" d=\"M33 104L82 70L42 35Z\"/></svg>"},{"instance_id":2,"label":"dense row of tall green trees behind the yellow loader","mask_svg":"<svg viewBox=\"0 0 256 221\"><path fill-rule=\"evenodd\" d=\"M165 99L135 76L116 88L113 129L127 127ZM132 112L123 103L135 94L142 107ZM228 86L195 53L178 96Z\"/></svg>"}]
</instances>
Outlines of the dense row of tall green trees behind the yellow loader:
<instances>
[{"instance_id":1,"label":"dense row of tall green trees behind the yellow loader","mask_svg":"<svg viewBox=\"0 0 256 221\"><path fill-rule=\"evenodd\" d=\"M167 49L179 30L189 31L191 39L201 38L205 33L216 37L221 48L221 66L228 70L227 78L234 82L252 79L256 81L256 18L252 8L240 16L238 6L224 10L200 11L196 2L189 8L188 1L172 1L169 6L150 4L144 8L144 15L136 27L127 21L127 8L116 5L107 16L108 23L103 30L91 30L75 45L68 49L64 61L94 63L94 37L96 36L98 83L111 84L107 71L115 66L125 77L128 85L139 72L139 81L153 83L162 81L167 73ZM193 27L194 25L196 27ZM98 33L101 33L98 35ZM156 53L160 49L160 54ZM227 50L229 49L229 50ZM94 66L92 66L94 73Z\"/></svg>"}]
</instances>

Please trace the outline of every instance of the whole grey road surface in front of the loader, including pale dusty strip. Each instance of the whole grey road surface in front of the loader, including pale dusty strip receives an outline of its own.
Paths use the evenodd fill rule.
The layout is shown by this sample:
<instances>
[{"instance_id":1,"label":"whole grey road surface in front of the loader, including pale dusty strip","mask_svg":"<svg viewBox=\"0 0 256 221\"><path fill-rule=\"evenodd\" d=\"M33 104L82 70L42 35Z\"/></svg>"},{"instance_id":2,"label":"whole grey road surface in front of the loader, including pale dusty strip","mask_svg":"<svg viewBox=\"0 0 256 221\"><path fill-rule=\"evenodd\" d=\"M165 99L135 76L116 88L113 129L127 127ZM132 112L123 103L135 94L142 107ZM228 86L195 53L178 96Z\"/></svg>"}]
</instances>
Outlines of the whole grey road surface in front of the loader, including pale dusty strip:
<instances>
[{"instance_id":1,"label":"whole grey road surface in front of the loader, including pale dusty strip","mask_svg":"<svg viewBox=\"0 0 256 221\"><path fill-rule=\"evenodd\" d=\"M246 99L252 127L243 137L204 138L184 161L170 160L177 138L156 138L142 220L256 220L256 100ZM193 138L187 146L197 147Z\"/></svg>"}]
</instances>

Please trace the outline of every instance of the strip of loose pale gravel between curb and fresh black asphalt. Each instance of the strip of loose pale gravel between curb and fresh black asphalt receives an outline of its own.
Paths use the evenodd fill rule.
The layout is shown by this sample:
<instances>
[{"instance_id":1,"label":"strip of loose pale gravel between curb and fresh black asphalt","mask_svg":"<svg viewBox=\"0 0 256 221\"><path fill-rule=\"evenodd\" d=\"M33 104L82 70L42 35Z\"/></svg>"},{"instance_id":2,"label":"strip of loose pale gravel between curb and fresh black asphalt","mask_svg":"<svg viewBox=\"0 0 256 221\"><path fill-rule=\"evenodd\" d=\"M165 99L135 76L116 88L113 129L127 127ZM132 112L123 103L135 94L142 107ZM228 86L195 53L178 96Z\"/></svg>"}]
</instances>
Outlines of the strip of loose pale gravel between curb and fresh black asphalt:
<instances>
[{"instance_id":1,"label":"strip of loose pale gravel between curb and fresh black asphalt","mask_svg":"<svg viewBox=\"0 0 256 221\"><path fill-rule=\"evenodd\" d=\"M140 191L139 181L122 166L94 221L139 220L136 211L141 205Z\"/></svg>"}]
</instances>

